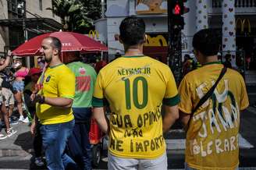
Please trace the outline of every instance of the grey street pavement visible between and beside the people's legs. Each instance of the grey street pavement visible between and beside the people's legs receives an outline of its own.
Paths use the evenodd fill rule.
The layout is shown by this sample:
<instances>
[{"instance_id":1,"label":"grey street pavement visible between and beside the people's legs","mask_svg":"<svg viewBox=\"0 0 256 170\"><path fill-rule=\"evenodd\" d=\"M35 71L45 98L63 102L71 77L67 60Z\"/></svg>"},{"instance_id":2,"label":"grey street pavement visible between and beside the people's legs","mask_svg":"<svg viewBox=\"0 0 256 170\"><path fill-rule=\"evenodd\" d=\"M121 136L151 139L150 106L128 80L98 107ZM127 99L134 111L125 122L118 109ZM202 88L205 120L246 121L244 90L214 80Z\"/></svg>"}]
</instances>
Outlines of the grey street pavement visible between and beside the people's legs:
<instances>
[{"instance_id":1,"label":"grey street pavement visible between and beside the people's legs","mask_svg":"<svg viewBox=\"0 0 256 170\"><path fill-rule=\"evenodd\" d=\"M251 105L256 102L256 87L247 87ZM249 107L240 118L240 169L256 169L256 108ZM0 140L0 169L46 169L34 165L33 139L30 126L19 123L13 125L18 132L5 140ZM2 129L2 133L4 130ZM182 129L172 129L165 135L169 169L183 169L185 133ZM107 140L97 169L107 169Z\"/></svg>"}]
</instances>

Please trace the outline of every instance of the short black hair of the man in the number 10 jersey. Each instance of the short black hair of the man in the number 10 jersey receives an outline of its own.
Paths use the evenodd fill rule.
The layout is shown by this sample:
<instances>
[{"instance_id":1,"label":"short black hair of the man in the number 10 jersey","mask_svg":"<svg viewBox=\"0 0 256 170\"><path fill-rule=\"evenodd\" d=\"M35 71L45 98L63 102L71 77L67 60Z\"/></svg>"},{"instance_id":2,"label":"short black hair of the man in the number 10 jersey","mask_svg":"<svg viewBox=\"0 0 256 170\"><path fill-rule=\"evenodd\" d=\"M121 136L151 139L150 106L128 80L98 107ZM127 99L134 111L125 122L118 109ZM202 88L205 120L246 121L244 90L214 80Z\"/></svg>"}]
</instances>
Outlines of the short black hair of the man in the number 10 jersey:
<instances>
[{"instance_id":1,"label":"short black hair of the man in the number 10 jersey","mask_svg":"<svg viewBox=\"0 0 256 170\"><path fill-rule=\"evenodd\" d=\"M145 35L145 23L137 16L128 16L119 26L120 39L128 46L142 44Z\"/></svg>"}]
</instances>

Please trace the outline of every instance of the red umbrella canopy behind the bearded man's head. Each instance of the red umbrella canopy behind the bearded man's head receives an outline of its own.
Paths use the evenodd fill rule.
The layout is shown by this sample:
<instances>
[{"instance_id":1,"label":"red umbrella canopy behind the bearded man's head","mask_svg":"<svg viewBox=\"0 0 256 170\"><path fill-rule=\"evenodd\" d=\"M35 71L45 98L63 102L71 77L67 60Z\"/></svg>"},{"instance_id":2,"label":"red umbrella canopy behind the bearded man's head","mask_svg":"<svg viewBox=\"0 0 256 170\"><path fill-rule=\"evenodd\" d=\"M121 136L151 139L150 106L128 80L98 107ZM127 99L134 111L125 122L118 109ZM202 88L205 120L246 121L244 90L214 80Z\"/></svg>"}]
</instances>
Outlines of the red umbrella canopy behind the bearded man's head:
<instances>
[{"instance_id":1,"label":"red umbrella canopy behind the bearded man's head","mask_svg":"<svg viewBox=\"0 0 256 170\"><path fill-rule=\"evenodd\" d=\"M37 37L31 38L29 41L21 44L18 48L12 51L13 55L27 56L39 55L41 48L41 41L45 37L57 37L62 42L62 52L65 51L81 51L81 52L94 52L94 51L108 51L108 48L91 37L84 34L77 34L73 32L53 32L41 34Z\"/></svg>"}]
</instances>

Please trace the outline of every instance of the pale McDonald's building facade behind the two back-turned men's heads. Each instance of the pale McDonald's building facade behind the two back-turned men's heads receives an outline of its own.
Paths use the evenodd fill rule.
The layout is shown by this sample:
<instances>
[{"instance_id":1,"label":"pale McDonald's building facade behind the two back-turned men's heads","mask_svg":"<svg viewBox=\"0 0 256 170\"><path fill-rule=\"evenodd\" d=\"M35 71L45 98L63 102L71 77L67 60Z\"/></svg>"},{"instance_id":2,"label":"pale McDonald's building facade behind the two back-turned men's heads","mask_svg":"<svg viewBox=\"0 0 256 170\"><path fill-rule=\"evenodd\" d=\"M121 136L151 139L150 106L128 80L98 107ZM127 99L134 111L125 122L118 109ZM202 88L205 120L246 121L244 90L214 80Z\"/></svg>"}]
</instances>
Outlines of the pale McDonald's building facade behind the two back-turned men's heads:
<instances>
[{"instance_id":1,"label":"pale McDonald's building facade behind the two back-turned men's heads","mask_svg":"<svg viewBox=\"0 0 256 170\"><path fill-rule=\"evenodd\" d=\"M191 53L192 37L203 28L215 29L222 41L220 51L222 55L231 54L232 64L237 62L246 66L247 61L255 61L256 44L256 1L255 0L188 0L185 4L190 11L184 14L185 27L182 31L183 55ZM168 16L166 0L108 0L106 19L103 19L105 29L102 31L105 43L108 44L108 53L115 55L116 51L123 52L123 46L119 43L119 24L126 16L139 16L146 23L146 32L149 35L144 50L153 57L166 58L168 45ZM222 24L223 23L223 24ZM97 25L101 22L96 23ZM165 52L163 52L165 51ZM237 55L243 51L243 55ZM239 66L240 66L239 65Z\"/></svg>"}]
</instances>

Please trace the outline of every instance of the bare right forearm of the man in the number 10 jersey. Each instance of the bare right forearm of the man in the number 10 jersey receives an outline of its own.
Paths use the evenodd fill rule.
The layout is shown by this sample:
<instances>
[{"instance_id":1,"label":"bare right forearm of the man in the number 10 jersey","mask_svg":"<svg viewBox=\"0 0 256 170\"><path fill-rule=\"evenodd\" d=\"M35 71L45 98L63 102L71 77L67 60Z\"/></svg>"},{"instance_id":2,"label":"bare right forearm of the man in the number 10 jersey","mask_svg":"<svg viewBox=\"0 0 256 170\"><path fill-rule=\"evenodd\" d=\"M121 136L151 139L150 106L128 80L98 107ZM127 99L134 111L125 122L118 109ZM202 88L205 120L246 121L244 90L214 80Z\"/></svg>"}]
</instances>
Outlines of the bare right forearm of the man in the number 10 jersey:
<instances>
[{"instance_id":1,"label":"bare right forearm of the man in the number 10 jersey","mask_svg":"<svg viewBox=\"0 0 256 170\"><path fill-rule=\"evenodd\" d=\"M173 125L173 123L176 121L176 119L179 119L179 108L178 105L164 105L164 109L165 115L163 116L162 120L162 131L163 133L166 133Z\"/></svg>"}]
</instances>

